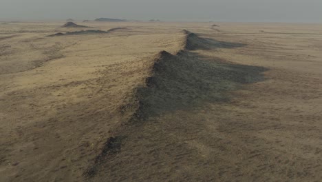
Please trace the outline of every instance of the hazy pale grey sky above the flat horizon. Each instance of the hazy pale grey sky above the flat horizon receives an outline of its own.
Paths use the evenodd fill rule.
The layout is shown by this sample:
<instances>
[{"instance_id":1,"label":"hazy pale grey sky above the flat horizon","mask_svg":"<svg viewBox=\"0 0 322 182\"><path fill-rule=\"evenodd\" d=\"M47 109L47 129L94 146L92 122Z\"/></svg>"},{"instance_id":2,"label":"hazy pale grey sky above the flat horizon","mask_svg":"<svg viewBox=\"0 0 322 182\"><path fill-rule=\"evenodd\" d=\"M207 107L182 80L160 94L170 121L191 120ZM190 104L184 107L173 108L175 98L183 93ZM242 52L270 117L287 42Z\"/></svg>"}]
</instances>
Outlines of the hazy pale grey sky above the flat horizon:
<instances>
[{"instance_id":1,"label":"hazy pale grey sky above the flat horizon","mask_svg":"<svg viewBox=\"0 0 322 182\"><path fill-rule=\"evenodd\" d=\"M322 23L322 0L0 0L1 20L98 17Z\"/></svg>"}]
</instances>

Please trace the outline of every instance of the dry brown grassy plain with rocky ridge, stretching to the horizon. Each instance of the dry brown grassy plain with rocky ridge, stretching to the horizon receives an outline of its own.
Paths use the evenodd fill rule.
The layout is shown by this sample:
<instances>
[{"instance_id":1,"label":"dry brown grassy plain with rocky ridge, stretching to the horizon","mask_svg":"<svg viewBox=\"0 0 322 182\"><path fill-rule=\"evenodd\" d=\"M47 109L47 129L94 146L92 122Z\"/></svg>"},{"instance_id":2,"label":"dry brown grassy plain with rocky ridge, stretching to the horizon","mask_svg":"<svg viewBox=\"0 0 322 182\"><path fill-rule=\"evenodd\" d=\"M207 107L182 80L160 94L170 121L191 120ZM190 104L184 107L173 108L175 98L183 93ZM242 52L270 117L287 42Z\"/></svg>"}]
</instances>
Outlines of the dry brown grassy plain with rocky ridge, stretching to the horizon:
<instances>
[{"instance_id":1,"label":"dry brown grassy plain with rocky ridge, stretching to the horizon","mask_svg":"<svg viewBox=\"0 0 322 182\"><path fill-rule=\"evenodd\" d=\"M321 181L322 25L74 23L0 22L1 182Z\"/></svg>"}]
</instances>

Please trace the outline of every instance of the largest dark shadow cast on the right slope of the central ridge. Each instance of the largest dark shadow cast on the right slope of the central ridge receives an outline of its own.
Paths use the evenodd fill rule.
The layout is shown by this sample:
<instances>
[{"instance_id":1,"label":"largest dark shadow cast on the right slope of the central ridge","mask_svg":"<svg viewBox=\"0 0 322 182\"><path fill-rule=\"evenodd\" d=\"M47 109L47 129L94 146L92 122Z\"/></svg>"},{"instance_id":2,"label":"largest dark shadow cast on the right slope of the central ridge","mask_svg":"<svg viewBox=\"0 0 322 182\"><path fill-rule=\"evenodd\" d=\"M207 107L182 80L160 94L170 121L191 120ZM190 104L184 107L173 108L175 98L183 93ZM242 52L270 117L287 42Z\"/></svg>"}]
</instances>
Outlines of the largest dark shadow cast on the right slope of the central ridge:
<instances>
[{"instance_id":1,"label":"largest dark shadow cast on the right slope of the central ridge","mask_svg":"<svg viewBox=\"0 0 322 182\"><path fill-rule=\"evenodd\" d=\"M146 86L138 88L138 119L229 101L228 92L264 81L266 68L223 63L195 52L160 52Z\"/></svg>"}]
</instances>

